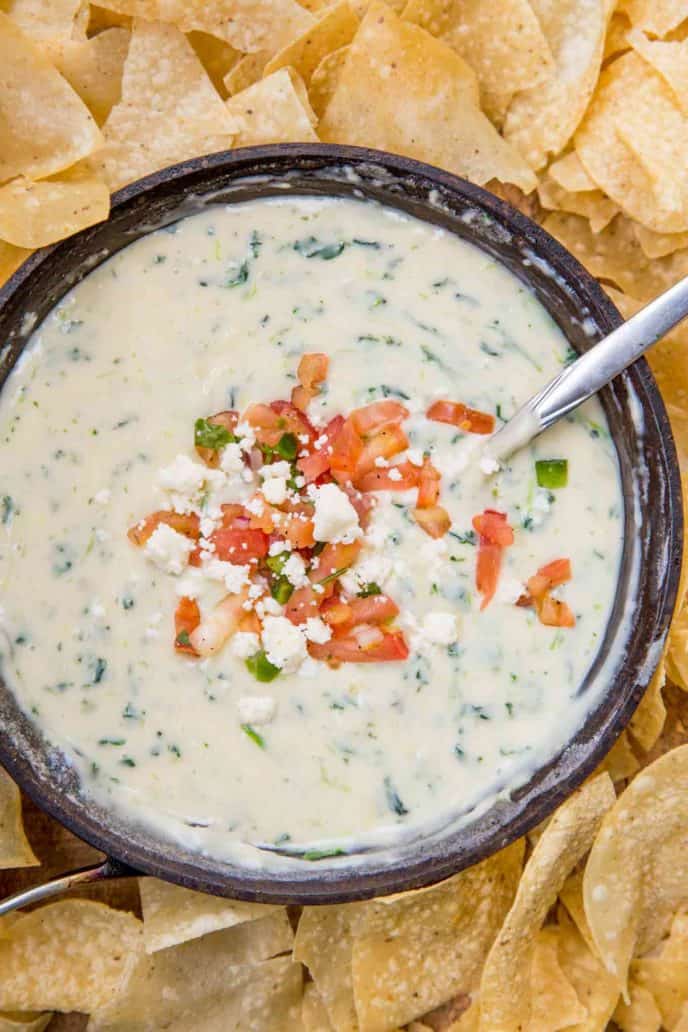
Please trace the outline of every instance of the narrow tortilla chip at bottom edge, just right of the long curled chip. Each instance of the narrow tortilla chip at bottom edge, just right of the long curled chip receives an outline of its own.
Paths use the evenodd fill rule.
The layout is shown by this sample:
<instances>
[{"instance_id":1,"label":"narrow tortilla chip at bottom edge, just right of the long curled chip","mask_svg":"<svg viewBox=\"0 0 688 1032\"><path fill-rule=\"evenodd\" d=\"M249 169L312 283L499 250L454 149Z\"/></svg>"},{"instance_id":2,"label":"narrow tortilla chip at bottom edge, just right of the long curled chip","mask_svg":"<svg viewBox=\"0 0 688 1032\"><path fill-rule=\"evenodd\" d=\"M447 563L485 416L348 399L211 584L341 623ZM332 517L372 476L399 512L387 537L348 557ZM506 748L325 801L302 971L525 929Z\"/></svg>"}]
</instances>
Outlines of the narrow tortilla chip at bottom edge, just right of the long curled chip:
<instances>
[{"instance_id":1,"label":"narrow tortilla chip at bottom edge, just right of the long curled chip","mask_svg":"<svg viewBox=\"0 0 688 1032\"><path fill-rule=\"evenodd\" d=\"M586 1008L559 964L556 928L543 928L533 947L530 968L528 1032L558 1032L585 1021Z\"/></svg>"}]
</instances>

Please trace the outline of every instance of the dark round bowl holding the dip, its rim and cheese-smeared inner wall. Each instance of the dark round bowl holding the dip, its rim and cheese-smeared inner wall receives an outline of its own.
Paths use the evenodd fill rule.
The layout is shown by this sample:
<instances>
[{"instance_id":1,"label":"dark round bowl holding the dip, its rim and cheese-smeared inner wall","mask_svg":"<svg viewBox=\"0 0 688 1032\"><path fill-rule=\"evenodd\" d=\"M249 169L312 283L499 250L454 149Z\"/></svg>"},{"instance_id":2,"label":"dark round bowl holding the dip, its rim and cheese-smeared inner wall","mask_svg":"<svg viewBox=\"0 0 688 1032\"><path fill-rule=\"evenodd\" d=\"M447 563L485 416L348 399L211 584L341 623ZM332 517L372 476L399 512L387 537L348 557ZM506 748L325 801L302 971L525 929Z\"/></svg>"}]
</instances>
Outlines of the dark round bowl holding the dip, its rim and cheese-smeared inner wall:
<instances>
[{"instance_id":1,"label":"dark round bowl holding the dip, its rim and cheese-smeared inner wall","mask_svg":"<svg viewBox=\"0 0 688 1032\"><path fill-rule=\"evenodd\" d=\"M33 255L0 291L0 384L37 321L112 252L208 203L287 192L374 198L441 226L527 283L578 351L621 318L598 284L543 229L448 172L356 148L285 144L211 155L167 168L116 194L109 219ZM634 394L644 428L631 416ZM0 682L0 762L34 801L80 838L130 867L220 896L270 903L333 903L426 885L501 849L548 816L594 769L628 722L653 674L676 601L683 531L671 431L645 361L601 395L618 451L625 544L613 615L581 690L605 690L585 725L546 767L460 828L428 832L393 851L251 870L195 853L103 810ZM630 619L622 619L632 607Z\"/></svg>"}]
</instances>

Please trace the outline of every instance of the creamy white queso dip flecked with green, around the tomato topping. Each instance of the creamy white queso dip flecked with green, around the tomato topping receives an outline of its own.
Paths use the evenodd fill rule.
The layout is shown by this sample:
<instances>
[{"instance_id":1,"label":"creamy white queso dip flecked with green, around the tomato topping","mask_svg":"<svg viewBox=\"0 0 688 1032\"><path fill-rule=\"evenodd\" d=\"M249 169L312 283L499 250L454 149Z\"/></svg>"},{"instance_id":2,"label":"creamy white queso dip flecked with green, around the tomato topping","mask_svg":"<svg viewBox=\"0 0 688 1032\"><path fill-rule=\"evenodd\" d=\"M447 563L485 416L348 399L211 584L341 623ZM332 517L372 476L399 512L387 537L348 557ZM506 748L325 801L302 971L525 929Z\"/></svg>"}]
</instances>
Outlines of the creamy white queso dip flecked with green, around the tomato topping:
<instances>
[{"instance_id":1,"label":"creamy white queso dip flecked with green, around the tomato topping","mask_svg":"<svg viewBox=\"0 0 688 1032\"><path fill-rule=\"evenodd\" d=\"M398 399L412 451L390 461L429 453L451 529L424 533L415 490L375 492L340 587L394 600L407 658L332 669L294 653L260 683L231 642L207 658L173 648L179 598L210 612L231 579L172 569L127 530L170 504L209 518L209 494L253 496L259 474L224 463L185 503L179 456L199 461L199 417L288 398L309 352L329 356L315 425ZM590 402L487 477L484 438L425 413L453 399L509 418L566 359L504 268L369 203L216 207L138 240L66 296L0 398L4 677L90 794L219 856L391 841L523 782L591 704L576 694L614 602L616 455ZM551 470L538 485L543 459L567 460L565 486ZM488 509L514 543L481 610L472 520ZM516 605L560 557L570 627Z\"/></svg>"}]
</instances>

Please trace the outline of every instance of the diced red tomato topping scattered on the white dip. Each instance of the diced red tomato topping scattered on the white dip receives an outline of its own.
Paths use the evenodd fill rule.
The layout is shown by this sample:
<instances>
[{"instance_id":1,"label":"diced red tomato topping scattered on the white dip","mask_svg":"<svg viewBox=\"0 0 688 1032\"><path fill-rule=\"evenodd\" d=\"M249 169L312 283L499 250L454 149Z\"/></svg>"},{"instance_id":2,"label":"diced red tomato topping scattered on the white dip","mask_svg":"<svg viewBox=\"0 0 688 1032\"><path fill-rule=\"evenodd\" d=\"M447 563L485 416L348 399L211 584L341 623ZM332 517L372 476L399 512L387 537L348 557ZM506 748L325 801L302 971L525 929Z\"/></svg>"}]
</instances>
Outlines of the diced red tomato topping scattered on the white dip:
<instances>
[{"instance_id":1,"label":"diced red tomato topping scattered on the white dip","mask_svg":"<svg viewBox=\"0 0 688 1032\"><path fill-rule=\"evenodd\" d=\"M355 409L349 416L336 415L324 428L316 428L307 416L307 406L318 395L327 377L325 354L305 354L298 364L298 386L291 400L258 402L238 412L216 413L199 420L203 433L196 437L196 451L210 469L221 464L222 450L240 440L237 427L248 424L255 445L242 452L247 470L256 471L272 462L289 462L289 490L280 504L270 503L258 489L245 503L221 507L221 516L207 538L201 535L201 520L195 513L158 510L129 530L130 540L146 544L162 524L193 543L189 565L201 567L204 556L251 568L250 584L239 593L228 594L218 606L201 614L198 604L183 598L175 613L174 648L192 656L218 652L237 632L260 635L265 612L259 603L270 596L292 623L301 625L318 617L331 637L325 642L308 641L309 654L331 666L341 663L403 660L408 646L394 620L398 607L376 585L351 598L340 578L356 562L361 541L350 544L317 542L313 486L336 484L356 510L365 529L375 505L374 491L417 491L413 515L431 538L441 538L451 527L447 510L440 505L441 475L429 455L422 462L393 460L408 448L403 429L408 410L401 402L386 399ZM489 433L494 417L456 401L435 401L426 416L450 423L470 433ZM197 423L198 429L198 423ZM244 446L245 448L245 446ZM487 509L473 518L479 536L476 571L477 588L484 609L494 596L503 551L514 542L506 515ZM280 548L284 544L284 549ZM283 573L291 556L303 561L305 583L294 587ZM570 578L570 565L560 559L543 567L528 581L528 592L520 606L534 606L543 623L571 626L572 613L552 596L552 589ZM272 607L274 611L274 607Z\"/></svg>"}]
</instances>

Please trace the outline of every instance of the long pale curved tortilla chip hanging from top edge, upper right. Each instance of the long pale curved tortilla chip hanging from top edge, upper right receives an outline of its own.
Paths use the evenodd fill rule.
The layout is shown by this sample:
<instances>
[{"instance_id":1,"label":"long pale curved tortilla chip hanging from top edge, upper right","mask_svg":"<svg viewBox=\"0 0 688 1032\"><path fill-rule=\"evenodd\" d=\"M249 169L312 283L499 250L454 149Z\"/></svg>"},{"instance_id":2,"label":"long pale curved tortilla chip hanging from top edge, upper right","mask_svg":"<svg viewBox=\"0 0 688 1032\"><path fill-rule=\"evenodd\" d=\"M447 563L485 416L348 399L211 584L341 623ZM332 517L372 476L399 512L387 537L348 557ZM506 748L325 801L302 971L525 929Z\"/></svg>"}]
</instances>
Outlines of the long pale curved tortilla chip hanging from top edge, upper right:
<instances>
[{"instance_id":1,"label":"long pale curved tortilla chip hanging from top edge, upper right","mask_svg":"<svg viewBox=\"0 0 688 1032\"><path fill-rule=\"evenodd\" d=\"M563 151L576 132L597 83L608 5L591 0L531 0L554 57L555 71L543 85L517 94L506 114L504 136L538 169ZM593 176L594 179L594 176Z\"/></svg>"}]
</instances>

